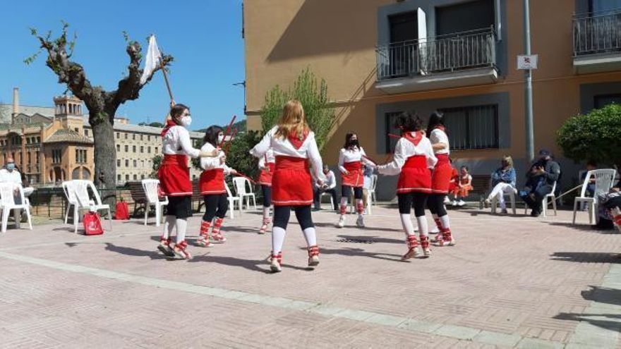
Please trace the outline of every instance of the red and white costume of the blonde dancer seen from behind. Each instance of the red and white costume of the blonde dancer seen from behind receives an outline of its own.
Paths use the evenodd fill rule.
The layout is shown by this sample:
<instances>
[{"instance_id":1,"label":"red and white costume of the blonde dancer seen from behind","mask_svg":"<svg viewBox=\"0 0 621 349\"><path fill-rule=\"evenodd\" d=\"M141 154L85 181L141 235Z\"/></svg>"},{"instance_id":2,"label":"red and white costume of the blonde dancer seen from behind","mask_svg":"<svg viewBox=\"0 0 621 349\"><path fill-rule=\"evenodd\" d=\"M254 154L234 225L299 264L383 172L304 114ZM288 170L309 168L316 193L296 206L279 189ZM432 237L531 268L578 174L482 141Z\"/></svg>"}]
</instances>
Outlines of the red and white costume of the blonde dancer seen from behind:
<instances>
[{"instance_id":1,"label":"red and white costume of the blonde dancer seen from behind","mask_svg":"<svg viewBox=\"0 0 621 349\"><path fill-rule=\"evenodd\" d=\"M274 152L276 164L272 174L272 202L274 206L310 205L313 203L313 187L309 161L313 165L315 178L325 181L315 134L309 132L299 140L296 137L276 137L276 131L277 127L272 128L251 150L251 154L259 158L270 147Z\"/></svg>"}]
</instances>

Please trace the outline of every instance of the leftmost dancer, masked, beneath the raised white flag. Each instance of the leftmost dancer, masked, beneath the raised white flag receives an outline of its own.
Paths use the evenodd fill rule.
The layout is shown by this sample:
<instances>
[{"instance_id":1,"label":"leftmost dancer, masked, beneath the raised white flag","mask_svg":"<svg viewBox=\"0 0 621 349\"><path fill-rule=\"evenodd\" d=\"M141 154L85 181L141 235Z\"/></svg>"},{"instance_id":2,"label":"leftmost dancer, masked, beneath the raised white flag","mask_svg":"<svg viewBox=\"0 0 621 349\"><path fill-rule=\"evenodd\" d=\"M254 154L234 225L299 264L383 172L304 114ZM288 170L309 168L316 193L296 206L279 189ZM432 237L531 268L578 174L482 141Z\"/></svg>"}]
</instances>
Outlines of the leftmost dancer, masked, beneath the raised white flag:
<instances>
[{"instance_id":1,"label":"leftmost dancer, masked, beneath the raised white flag","mask_svg":"<svg viewBox=\"0 0 621 349\"><path fill-rule=\"evenodd\" d=\"M192 216L192 182L188 168L188 156L213 157L217 152L206 152L192 147L190 134L186 129L192 118L190 109L183 104L174 104L170 109L164 130L162 130L162 152L164 159L159 166L157 176L159 184L168 196L167 216L164 221L164 233L159 239L157 248L167 257L191 259L192 255L186 250L186 229L188 217ZM176 228L177 236L174 247L170 245L170 235Z\"/></svg>"}]
</instances>

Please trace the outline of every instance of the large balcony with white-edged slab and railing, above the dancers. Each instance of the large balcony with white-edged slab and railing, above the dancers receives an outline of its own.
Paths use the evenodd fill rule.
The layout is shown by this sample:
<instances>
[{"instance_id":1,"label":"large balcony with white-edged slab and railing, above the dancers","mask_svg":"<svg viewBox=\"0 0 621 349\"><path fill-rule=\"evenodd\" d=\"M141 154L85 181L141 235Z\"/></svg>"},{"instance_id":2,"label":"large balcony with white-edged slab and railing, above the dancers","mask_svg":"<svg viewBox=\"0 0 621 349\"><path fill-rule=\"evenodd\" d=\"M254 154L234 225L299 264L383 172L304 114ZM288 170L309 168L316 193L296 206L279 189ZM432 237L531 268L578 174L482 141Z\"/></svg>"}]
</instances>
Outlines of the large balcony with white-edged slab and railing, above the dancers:
<instances>
[{"instance_id":1,"label":"large balcony with white-edged slab and railing, above the dancers","mask_svg":"<svg viewBox=\"0 0 621 349\"><path fill-rule=\"evenodd\" d=\"M493 27L381 46L377 62L375 86L388 94L498 80Z\"/></svg>"}]
</instances>

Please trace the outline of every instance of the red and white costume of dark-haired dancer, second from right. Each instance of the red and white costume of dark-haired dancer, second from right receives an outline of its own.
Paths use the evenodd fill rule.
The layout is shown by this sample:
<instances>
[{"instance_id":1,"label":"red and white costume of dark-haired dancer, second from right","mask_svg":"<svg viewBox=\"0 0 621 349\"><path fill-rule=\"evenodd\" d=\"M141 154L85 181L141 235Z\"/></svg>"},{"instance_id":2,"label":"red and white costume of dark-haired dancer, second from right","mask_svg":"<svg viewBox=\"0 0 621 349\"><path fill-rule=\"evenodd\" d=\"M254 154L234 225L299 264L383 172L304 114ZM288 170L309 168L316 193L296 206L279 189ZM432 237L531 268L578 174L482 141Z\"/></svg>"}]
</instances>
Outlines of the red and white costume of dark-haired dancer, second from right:
<instances>
[{"instance_id":1,"label":"red and white costume of dark-haired dancer, second from right","mask_svg":"<svg viewBox=\"0 0 621 349\"><path fill-rule=\"evenodd\" d=\"M438 162L431 142L420 132L404 133L394 147L389 164L378 166L378 172L387 176L399 174L397 192L431 192L431 173Z\"/></svg>"}]
</instances>

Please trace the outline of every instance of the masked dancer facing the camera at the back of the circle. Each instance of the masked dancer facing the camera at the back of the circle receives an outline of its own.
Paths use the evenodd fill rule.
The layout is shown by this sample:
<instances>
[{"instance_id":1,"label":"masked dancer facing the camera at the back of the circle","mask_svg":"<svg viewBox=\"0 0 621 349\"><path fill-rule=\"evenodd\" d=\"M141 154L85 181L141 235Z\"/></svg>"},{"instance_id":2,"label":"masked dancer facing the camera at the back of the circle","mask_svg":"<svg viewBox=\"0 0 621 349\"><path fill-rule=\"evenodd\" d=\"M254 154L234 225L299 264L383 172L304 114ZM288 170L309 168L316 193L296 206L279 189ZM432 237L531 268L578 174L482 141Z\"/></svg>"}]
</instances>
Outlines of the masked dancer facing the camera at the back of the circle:
<instances>
[{"instance_id":1,"label":"masked dancer facing the camera at the back of the circle","mask_svg":"<svg viewBox=\"0 0 621 349\"><path fill-rule=\"evenodd\" d=\"M345 135L345 144L339 153L339 171L341 171L341 216L337 227L345 226L345 211L347 209L347 198L351 196L351 190L354 189L354 200L356 200L356 211L358 212L358 220L356 226L364 227L364 204L363 204L363 186L364 176L362 164L375 168L375 164L368 161L364 149L358 143L358 135L356 133L347 133Z\"/></svg>"}]
</instances>

